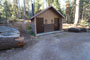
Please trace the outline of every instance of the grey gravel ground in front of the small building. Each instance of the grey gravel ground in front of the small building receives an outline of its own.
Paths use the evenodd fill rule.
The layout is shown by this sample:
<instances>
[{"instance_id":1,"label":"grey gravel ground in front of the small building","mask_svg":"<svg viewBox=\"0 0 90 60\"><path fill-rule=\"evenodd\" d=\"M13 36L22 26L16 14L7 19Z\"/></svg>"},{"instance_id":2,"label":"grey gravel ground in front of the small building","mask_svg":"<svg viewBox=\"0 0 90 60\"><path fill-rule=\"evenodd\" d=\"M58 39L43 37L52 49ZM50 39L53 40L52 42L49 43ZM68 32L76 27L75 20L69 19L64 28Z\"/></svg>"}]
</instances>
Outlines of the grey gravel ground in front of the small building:
<instances>
[{"instance_id":1,"label":"grey gravel ground in front of the small building","mask_svg":"<svg viewBox=\"0 0 90 60\"><path fill-rule=\"evenodd\" d=\"M22 48L0 51L0 60L90 60L90 33L25 36L25 43Z\"/></svg>"}]
</instances>

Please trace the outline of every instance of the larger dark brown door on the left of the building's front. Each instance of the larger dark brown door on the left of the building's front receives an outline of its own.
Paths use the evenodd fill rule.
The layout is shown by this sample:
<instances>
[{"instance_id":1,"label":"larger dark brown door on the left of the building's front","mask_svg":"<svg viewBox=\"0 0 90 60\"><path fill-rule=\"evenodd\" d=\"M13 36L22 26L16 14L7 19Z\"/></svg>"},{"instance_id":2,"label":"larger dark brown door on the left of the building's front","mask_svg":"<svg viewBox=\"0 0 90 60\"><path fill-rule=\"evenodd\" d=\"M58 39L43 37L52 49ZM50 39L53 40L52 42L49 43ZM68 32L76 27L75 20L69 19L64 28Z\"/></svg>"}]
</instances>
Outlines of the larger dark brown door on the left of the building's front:
<instances>
[{"instance_id":1,"label":"larger dark brown door on the left of the building's front","mask_svg":"<svg viewBox=\"0 0 90 60\"><path fill-rule=\"evenodd\" d=\"M36 18L37 33L44 32L43 18Z\"/></svg>"}]
</instances>

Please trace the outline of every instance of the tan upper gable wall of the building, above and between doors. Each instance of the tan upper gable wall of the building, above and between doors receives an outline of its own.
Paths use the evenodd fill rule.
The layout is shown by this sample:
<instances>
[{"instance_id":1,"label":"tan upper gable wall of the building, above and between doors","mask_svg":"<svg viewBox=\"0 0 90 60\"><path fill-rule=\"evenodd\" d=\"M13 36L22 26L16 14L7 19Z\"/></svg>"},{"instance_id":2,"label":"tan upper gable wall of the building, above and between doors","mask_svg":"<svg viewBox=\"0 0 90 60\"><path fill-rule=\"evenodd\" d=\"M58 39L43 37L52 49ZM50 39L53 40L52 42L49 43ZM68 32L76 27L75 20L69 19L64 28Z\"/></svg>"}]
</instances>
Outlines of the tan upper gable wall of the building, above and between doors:
<instances>
[{"instance_id":1,"label":"tan upper gable wall of the building, above and between doors","mask_svg":"<svg viewBox=\"0 0 90 60\"><path fill-rule=\"evenodd\" d=\"M47 11L45 11L44 13L38 15L37 17L42 17L44 18L44 24L45 24L45 20L47 20L47 24L52 24L53 20L53 24L54 24L54 18L59 18L60 16L58 16L54 11L52 11L51 9L48 9Z\"/></svg>"}]
</instances>

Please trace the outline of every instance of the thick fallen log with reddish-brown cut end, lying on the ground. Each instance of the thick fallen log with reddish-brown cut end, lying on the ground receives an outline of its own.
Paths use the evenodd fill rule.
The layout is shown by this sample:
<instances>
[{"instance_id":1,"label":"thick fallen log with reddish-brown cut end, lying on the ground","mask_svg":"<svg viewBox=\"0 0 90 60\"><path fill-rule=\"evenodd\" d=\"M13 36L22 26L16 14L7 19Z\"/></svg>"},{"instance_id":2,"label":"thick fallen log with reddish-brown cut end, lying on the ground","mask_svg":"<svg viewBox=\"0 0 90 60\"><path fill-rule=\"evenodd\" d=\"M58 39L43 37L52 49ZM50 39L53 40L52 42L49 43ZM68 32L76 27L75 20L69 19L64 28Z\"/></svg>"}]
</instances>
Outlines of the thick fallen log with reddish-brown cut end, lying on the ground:
<instances>
[{"instance_id":1,"label":"thick fallen log with reddish-brown cut end, lying on the ground","mask_svg":"<svg viewBox=\"0 0 90 60\"><path fill-rule=\"evenodd\" d=\"M24 45L24 38L0 38L0 50L21 47Z\"/></svg>"}]
</instances>

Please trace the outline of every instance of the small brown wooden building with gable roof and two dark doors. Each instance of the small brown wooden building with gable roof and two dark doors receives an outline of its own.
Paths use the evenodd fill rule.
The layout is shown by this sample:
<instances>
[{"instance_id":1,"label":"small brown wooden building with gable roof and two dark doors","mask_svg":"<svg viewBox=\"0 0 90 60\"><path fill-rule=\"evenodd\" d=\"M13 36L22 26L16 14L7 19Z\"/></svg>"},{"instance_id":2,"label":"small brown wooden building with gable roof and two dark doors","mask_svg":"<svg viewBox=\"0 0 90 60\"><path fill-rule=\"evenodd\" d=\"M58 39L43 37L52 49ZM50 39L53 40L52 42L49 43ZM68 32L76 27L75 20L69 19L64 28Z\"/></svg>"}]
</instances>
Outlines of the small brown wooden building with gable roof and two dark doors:
<instances>
[{"instance_id":1,"label":"small brown wooden building with gable roof and two dark doors","mask_svg":"<svg viewBox=\"0 0 90 60\"><path fill-rule=\"evenodd\" d=\"M40 11L31 18L31 26L35 35L46 32L62 30L62 18L64 16L54 7Z\"/></svg>"}]
</instances>

